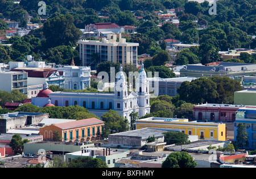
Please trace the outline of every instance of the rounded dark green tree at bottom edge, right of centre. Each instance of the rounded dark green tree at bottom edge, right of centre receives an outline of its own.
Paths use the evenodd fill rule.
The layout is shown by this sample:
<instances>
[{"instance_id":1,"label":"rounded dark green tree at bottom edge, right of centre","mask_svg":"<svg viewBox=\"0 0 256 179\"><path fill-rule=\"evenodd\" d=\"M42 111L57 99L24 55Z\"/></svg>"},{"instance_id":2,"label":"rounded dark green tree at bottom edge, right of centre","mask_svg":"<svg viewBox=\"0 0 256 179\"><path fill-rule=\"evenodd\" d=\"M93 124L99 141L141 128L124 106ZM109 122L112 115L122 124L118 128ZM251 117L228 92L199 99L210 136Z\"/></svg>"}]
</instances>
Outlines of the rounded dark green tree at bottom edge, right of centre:
<instances>
[{"instance_id":1,"label":"rounded dark green tree at bottom edge, right of centre","mask_svg":"<svg viewBox=\"0 0 256 179\"><path fill-rule=\"evenodd\" d=\"M197 163L187 152L172 152L163 161L162 168L195 168Z\"/></svg>"}]
</instances>

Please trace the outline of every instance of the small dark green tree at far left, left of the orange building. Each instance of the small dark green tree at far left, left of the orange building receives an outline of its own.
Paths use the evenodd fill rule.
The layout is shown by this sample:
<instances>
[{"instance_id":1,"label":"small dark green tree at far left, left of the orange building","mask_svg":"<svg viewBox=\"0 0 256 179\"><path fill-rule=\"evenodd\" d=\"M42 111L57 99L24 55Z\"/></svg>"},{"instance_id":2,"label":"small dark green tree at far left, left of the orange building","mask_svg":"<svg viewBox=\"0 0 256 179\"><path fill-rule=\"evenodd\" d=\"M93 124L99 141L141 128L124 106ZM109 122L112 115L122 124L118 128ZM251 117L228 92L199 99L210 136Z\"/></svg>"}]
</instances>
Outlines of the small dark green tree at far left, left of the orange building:
<instances>
[{"instance_id":1,"label":"small dark green tree at far left, left of the orange building","mask_svg":"<svg viewBox=\"0 0 256 179\"><path fill-rule=\"evenodd\" d=\"M10 142L10 147L13 149L15 155L22 154L24 144L28 143L27 139L23 139L19 134L14 134Z\"/></svg>"}]
</instances>

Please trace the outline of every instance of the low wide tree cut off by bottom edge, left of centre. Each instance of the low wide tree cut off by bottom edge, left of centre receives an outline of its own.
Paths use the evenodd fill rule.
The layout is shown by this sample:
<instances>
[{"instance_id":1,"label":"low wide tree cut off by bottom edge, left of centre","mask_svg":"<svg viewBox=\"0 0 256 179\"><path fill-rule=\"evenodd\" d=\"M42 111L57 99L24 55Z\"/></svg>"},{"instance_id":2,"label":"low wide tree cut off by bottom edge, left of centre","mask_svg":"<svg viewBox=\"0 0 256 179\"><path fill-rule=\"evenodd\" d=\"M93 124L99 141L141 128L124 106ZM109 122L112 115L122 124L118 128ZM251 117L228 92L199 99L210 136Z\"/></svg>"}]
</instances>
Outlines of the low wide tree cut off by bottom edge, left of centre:
<instances>
[{"instance_id":1,"label":"low wide tree cut off by bottom edge, left of centre","mask_svg":"<svg viewBox=\"0 0 256 179\"><path fill-rule=\"evenodd\" d=\"M77 157L72 159L68 168L108 168L108 165L102 159L92 157Z\"/></svg>"}]
</instances>

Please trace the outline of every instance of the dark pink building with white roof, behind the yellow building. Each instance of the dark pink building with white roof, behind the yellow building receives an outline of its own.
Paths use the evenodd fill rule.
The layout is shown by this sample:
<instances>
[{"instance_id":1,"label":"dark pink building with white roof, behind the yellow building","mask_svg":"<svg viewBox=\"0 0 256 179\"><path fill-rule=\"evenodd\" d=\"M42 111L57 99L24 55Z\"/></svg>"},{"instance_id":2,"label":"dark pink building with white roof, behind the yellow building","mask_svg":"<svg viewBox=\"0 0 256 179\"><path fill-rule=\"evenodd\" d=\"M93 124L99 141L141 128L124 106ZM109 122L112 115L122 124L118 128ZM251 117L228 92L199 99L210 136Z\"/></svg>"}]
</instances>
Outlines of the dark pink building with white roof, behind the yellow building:
<instances>
[{"instance_id":1,"label":"dark pink building with white roof, behind the yellow building","mask_svg":"<svg viewBox=\"0 0 256 179\"><path fill-rule=\"evenodd\" d=\"M236 111L240 105L224 105L205 103L193 107L195 120L210 120L217 122L234 122Z\"/></svg>"}]
</instances>

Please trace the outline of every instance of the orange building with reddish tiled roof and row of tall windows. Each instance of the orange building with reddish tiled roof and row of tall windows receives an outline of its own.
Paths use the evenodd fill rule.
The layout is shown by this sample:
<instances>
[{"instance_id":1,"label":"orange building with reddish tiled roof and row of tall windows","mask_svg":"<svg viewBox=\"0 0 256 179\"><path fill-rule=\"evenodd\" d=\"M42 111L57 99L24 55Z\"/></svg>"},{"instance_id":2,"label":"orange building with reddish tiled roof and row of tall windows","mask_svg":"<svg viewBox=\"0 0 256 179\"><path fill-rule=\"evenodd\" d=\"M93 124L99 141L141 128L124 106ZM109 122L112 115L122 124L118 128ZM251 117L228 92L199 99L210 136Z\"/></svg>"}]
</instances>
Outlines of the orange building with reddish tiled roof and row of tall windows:
<instances>
[{"instance_id":1,"label":"orange building with reddish tiled roof and row of tall windows","mask_svg":"<svg viewBox=\"0 0 256 179\"><path fill-rule=\"evenodd\" d=\"M53 132L58 131L63 141L81 142L100 139L103 130L102 120L89 118L42 127L39 134L43 135L43 140L52 140Z\"/></svg>"}]
</instances>

